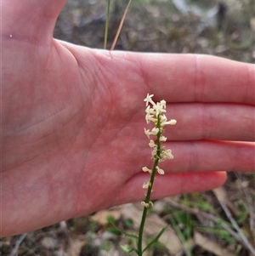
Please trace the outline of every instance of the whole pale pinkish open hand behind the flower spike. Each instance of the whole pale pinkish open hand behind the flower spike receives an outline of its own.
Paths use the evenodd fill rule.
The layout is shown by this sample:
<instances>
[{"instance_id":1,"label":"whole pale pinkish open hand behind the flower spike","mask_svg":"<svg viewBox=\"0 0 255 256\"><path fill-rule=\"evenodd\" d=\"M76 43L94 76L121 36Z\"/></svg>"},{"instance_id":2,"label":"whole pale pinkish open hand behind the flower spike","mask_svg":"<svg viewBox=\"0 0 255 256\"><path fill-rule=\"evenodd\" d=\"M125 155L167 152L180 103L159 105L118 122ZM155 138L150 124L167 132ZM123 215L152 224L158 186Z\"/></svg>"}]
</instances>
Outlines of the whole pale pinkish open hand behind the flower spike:
<instances>
[{"instance_id":1,"label":"whole pale pinkish open hand behind the flower spike","mask_svg":"<svg viewBox=\"0 0 255 256\"><path fill-rule=\"evenodd\" d=\"M1 236L143 201L147 93L177 120L154 199L254 172L254 65L84 48L52 37L64 0L1 4Z\"/></svg>"}]
</instances>

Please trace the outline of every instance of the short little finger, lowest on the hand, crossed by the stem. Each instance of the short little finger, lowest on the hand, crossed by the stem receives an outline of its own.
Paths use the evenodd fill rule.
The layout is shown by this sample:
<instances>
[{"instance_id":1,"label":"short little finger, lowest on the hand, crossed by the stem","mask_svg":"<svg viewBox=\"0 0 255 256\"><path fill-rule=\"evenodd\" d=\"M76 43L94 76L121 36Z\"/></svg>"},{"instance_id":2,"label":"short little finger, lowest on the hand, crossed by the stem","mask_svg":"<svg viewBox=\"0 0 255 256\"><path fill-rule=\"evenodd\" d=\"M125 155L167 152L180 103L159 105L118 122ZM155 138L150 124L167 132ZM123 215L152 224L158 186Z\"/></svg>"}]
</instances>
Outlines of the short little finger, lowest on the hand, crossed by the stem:
<instances>
[{"instance_id":1,"label":"short little finger, lowest on the hand, crossed by the stem","mask_svg":"<svg viewBox=\"0 0 255 256\"><path fill-rule=\"evenodd\" d=\"M122 186L113 204L143 201L145 190L142 185L149 179L148 174L134 175ZM224 172L156 175L152 197L157 199L183 193L208 191L223 185L225 180Z\"/></svg>"}]
</instances>

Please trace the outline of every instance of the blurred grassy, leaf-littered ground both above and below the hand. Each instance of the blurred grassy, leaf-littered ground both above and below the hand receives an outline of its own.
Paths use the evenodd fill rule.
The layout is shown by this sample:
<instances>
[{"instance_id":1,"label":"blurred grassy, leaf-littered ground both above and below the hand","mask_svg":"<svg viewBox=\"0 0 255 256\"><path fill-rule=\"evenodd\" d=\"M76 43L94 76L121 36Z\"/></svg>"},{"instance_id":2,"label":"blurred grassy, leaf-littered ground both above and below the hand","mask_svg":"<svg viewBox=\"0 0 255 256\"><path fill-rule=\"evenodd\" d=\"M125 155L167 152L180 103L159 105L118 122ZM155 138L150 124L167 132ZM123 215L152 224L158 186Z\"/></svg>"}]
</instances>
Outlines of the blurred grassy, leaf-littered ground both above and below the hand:
<instances>
[{"instance_id":1,"label":"blurred grassy, leaf-littered ground both above and below the hand","mask_svg":"<svg viewBox=\"0 0 255 256\"><path fill-rule=\"evenodd\" d=\"M127 0L111 0L107 48ZM255 0L133 0L116 49L139 52L212 54L254 63ZM103 48L106 1L70 0L54 37ZM118 256L130 244L109 224L137 232L139 203L107 209L21 236L0 239L0 255ZM111 217L109 217L111 216ZM229 174L213 191L155 202L145 229L150 237L169 224L147 254L153 256L252 256L255 247L255 174Z\"/></svg>"}]
</instances>

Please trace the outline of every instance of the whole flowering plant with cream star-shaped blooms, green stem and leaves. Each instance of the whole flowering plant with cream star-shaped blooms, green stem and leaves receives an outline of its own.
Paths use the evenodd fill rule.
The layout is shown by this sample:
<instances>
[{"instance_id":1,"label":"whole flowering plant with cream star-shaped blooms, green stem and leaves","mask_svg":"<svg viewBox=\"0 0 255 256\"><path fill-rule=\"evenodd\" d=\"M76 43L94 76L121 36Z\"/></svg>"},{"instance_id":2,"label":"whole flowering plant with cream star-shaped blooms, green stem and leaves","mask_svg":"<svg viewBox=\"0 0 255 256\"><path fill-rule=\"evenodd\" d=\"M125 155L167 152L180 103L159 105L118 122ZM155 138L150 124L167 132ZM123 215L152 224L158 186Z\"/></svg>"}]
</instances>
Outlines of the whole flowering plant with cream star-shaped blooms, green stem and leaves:
<instances>
[{"instance_id":1,"label":"whole flowering plant with cream star-shaped blooms, green stem and leaves","mask_svg":"<svg viewBox=\"0 0 255 256\"><path fill-rule=\"evenodd\" d=\"M132 251L136 252L139 256L142 256L143 253L151 247L161 236L161 234L167 229L167 227L163 228L158 235L146 246L144 249L142 248L142 239L144 233L144 224L146 215L148 212L148 208L153 207L153 202L150 201L150 196L152 192L153 183L155 180L156 173L158 174L165 174L164 170L159 168L159 163L165 161L166 159L173 159L173 154L171 150L167 150L162 146L162 143L167 141L167 138L163 135L164 134L164 127L166 125L175 125L177 121L175 119L171 119L167 121L167 117L165 113L166 110L166 101L161 100L160 102L155 103L152 100L153 94L147 94L146 98L144 99L146 103L146 116L145 120L147 124L153 122L155 127L150 129L144 128L144 134L147 135L148 139L150 136L156 137L155 140L150 139L149 146L151 150L151 156L154 160L153 168L143 167L142 170L148 174L150 174L150 179L147 182L144 182L143 188L147 190L145 194L145 200L141 202L144 207L140 227L139 227L139 236L134 236L131 234L127 234L123 232L126 236L131 236L137 240L137 248L127 248L122 247L124 251L127 253L131 253Z\"/></svg>"}]
</instances>

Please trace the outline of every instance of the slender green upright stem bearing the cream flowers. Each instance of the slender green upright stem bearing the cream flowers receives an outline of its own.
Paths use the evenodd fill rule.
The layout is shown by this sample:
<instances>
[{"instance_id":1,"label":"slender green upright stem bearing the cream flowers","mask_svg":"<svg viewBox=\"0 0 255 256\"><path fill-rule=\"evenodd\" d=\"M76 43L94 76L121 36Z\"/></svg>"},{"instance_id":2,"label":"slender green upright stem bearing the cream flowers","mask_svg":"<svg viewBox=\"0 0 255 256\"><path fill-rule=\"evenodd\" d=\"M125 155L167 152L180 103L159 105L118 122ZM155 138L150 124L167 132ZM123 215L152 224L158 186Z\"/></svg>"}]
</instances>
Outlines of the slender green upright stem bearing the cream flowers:
<instances>
[{"instance_id":1,"label":"slender green upright stem bearing the cream flowers","mask_svg":"<svg viewBox=\"0 0 255 256\"><path fill-rule=\"evenodd\" d=\"M156 157L154 160L154 166L152 168L152 173L150 174L150 185L148 187L148 191L145 197L145 203L149 203L149 207L150 207L150 195L152 192L152 187L153 187L153 183L154 183L154 179L155 179L155 175L156 175L156 167L158 166L159 160L161 158L161 141L160 141L160 137L161 137L161 124L160 124L160 115L157 117L157 128L160 129L160 131L158 132L158 134L156 135L157 137L157 145L156 145ZM146 219L146 215L148 212L148 207L144 206L144 211L143 211L143 215L142 215L142 219L141 219L141 223L140 223L140 227L139 227L139 240L138 240L138 255L142 256L143 255L143 248L142 248L142 240L143 240L143 234L144 234L144 225L145 225L145 219Z\"/></svg>"}]
</instances>

